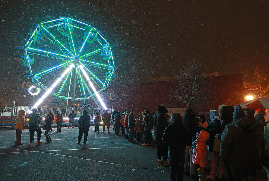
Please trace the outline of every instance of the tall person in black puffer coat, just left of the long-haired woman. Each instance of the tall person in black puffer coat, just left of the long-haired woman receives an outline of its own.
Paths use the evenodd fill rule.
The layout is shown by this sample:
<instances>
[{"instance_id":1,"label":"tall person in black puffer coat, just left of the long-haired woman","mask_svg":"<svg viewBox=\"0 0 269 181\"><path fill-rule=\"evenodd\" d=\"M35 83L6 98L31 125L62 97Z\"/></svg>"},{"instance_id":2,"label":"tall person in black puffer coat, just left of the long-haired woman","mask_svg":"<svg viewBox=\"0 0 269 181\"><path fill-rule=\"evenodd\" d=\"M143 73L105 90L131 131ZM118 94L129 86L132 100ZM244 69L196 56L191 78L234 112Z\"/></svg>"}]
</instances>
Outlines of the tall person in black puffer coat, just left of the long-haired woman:
<instances>
[{"instance_id":1,"label":"tall person in black puffer coat, just left of the long-haired woman","mask_svg":"<svg viewBox=\"0 0 269 181\"><path fill-rule=\"evenodd\" d=\"M167 144L163 143L163 132L166 126L168 125L167 119L164 116L164 113L167 113L167 109L164 106L157 107L157 113L153 116L153 129L154 135L156 137L156 145L157 145L157 157L158 157L158 164L169 165L167 162L168 158L168 150ZM161 160L163 156L163 161Z\"/></svg>"}]
</instances>

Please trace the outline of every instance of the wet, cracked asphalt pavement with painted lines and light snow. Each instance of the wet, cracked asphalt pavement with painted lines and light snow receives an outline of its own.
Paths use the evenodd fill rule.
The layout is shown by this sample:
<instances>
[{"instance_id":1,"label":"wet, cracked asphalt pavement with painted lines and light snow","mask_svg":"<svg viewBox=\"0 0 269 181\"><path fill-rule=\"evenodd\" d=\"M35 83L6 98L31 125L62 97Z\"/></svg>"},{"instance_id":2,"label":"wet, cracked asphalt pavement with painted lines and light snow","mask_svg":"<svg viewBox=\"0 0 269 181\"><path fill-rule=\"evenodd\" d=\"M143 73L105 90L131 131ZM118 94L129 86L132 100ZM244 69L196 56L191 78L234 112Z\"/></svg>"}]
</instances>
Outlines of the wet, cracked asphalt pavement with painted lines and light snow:
<instances>
[{"instance_id":1,"label":"wet, cracked asphalt pavement with painted lines and light snow","mask_svg":"<svg viewBox=\"0 0 269 181\"><path fill-rule=\"evenodd\" d=\"M45 144L42 130L41 142L29 145L29 130L22 132L23 145L14 146L15 130L0 130L0 181L169 181L169 167L157 164L157 150L142 143L130 143L125 136L117 136L110 128L110 133L94 133L90 127L87 144L76 144L78 127L62 127L61 133L56 128L49 132L52 142ZM210 154L209 154L210 155ZM207 172L210 170L207 168ZM259 172L266 177L266 173ZM265 178L264 176L260 178ZM184 176L185 181L194 181ZM210 179L208 179L210 180ZM227 180L227 178L219 179Z\"/></svg>"}]
</instances>

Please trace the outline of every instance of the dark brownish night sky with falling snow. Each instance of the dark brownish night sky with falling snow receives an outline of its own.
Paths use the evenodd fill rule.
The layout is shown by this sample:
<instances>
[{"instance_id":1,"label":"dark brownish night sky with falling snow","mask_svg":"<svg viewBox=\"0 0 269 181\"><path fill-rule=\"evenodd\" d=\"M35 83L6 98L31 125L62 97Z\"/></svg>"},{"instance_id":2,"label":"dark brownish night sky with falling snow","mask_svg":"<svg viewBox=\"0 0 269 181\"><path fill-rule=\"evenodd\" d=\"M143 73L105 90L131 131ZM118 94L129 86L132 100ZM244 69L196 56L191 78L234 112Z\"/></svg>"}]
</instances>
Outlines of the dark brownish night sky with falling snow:
<instances>
[{"instance_id":1,"label":"dark brownish night sky with falling snow","mask_svg":"<svg viewBox=\"0 0 269 181\"><path fill-rule=\"evenodd\" d=\"M242 74L253 80L256 64L269 70L269 1L3 1L0 3L0 102L24 105L25 68L14 60L31 22L73 17L97 27L114 46L119 78L110 86L171 76L190 59L204 72ZM44 62L46 65L46 62ZM50 66L50 65L48 65ZM48 67L49 68L49 67Z\"/></svg>"}]
</instances>

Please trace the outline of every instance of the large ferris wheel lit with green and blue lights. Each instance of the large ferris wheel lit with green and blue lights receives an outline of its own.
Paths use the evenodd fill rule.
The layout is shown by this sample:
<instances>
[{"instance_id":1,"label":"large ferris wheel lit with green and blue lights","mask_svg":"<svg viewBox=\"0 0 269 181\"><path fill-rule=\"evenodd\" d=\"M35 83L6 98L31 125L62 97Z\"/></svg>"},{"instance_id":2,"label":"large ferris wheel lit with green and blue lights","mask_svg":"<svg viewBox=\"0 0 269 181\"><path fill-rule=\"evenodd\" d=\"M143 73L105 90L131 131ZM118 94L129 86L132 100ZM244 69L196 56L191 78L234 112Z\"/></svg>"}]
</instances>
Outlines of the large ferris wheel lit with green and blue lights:
<instances>
[{"instance_id":1,"label":"large ferris wheel lit with green and blue lights","mask_svg":"<svg viewBox=\"0 0 269 181\"><path fill-rule=\"evenodd\" d=\"M45 94L68 101L95 97L106 108L100 92L115 78L112 46L97 28L70 17L32 23L24 44L21 65ZM35 57L34 57L35 56ZM98 103L97 103L98 105Z\"/></svg>"}]
</instances>

